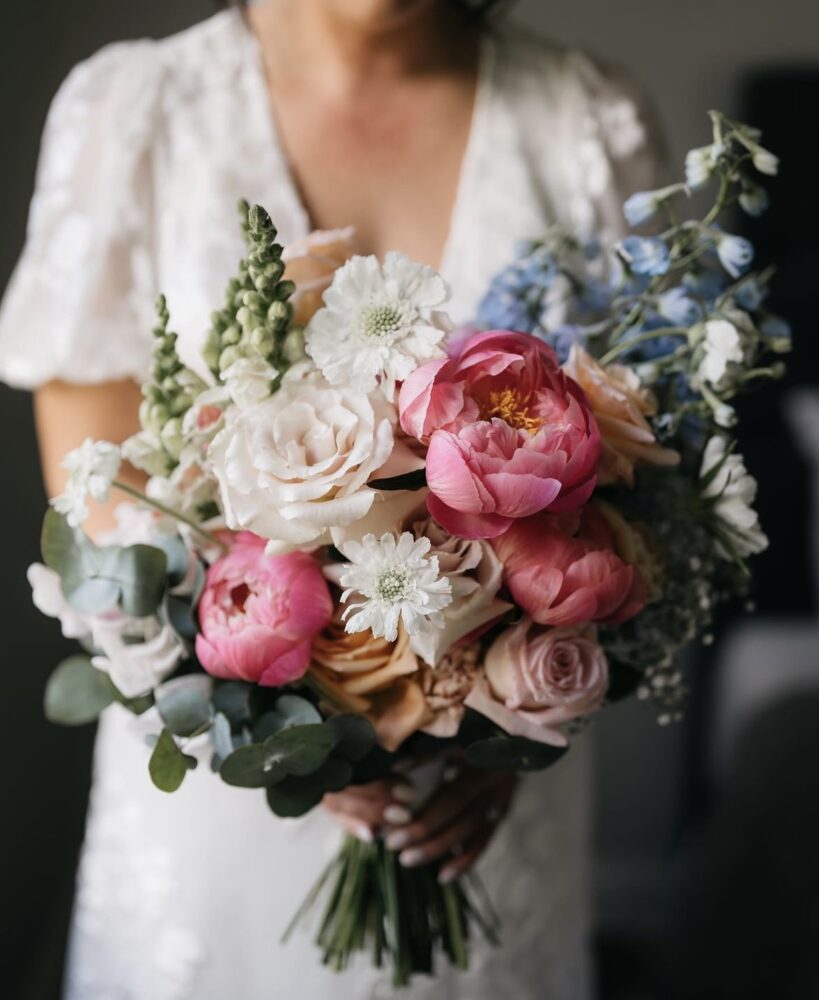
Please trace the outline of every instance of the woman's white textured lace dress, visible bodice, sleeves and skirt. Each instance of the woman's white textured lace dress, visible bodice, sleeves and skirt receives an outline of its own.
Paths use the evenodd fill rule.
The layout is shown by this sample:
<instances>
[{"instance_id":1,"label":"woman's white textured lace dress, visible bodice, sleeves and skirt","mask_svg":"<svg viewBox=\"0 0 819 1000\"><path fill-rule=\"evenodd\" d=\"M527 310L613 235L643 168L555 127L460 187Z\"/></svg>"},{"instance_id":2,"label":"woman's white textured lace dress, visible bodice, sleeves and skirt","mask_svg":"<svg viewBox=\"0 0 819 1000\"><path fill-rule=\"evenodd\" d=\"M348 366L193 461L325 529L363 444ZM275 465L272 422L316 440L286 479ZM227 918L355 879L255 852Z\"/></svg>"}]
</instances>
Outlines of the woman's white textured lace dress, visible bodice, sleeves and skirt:
<instances>
[{"instance_id":1,"label":"woman's white textured lace dress, visible bodice, sleeves and skirt","mask_svg":"<svg viewBox=\"0 0 819 1000\"><path fill-rule=\"evenodd\" d=\"M639 93L581 53L513 26L483 45L441 270L468 321L516 242L550 223L604 237L623 197L656 181ZM28 237L0 312L0 378L141 379L163 291L180 352L202 370L209 312L242 245L236 202L265 205L283 242L310 225L271 113L261 54L235 12L173 38L110 46L78 66L43 140ZM320 810L277 820L261 793L200 767L155 790L147 749L116 706L97 738L78 877L68 1000L368 1000L384 973L325 970L307 934L279 937L338 843ZM476 943L408 1000L586 1000L588 739L521 784L481 863L504 943Z\"/></svg>"}]
</instances>

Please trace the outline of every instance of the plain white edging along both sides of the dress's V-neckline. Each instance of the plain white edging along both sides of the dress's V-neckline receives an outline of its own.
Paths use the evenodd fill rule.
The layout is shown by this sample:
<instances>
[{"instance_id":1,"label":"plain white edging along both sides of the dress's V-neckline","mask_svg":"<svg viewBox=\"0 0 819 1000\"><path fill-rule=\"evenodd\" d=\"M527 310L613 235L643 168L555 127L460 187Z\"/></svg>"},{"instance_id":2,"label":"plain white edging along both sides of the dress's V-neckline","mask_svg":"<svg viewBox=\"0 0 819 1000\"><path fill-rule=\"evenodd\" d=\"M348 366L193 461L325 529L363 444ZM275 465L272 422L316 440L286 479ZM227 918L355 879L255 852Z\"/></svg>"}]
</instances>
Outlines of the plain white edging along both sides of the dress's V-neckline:
<instances>
[{"instance_id":1,"label":"plain white edging along both sides of the dress's V-neckline","mask_svg":"<svg viewBox=\"0 0 819 1000\"><path fill-rule=\"evenodd\" d=\"M261 44L241 12L234 11L232 13L238 19L240 32L245 39L247 64L252 71L252 82L256 100L258 101L260 128L264 130L264 136L267 140L265 145L270 150L276 175L281 179L281 198L285 202L286 210L298 222L300 231L297 234L293 234L293 237L295 239L304 238L309 235L313 226L310 213L299 192L293 166L285 152L281 131L270 95L267 69ZM479 40L477 80L472 104L472 116L466 145L461 157L452 206L450 208L449 226L441 250L440 260L434 265L444 276L449 275L454 262L458 258L457 247L460 233L463 229L463 219L467 206L473 201L472 189L477 178L476 164L479 160L478 150L482 143L483 133L489 118L496 61L495 37L491 30L484 31ZM425 261L424 263L429 262Z\"/></svg>"}]
</instances>

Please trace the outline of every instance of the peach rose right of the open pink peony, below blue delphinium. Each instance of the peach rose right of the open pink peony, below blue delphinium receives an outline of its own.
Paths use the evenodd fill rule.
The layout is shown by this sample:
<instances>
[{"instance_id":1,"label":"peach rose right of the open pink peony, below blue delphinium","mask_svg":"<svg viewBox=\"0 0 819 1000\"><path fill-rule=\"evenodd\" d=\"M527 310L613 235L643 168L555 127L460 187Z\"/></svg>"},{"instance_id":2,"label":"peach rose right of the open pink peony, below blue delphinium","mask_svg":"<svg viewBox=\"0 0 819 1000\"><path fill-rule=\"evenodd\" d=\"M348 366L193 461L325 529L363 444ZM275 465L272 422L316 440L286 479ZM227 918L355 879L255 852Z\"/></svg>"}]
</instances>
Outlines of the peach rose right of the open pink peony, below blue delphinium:
<instances>
[{"instance_id":1,"label":"peach rose right of the open pink peony, below blue delphinium","mask_svg":"<svg viewBox=\"0 0 819 1000\"><path fill-rule=\"evenodd\" d=\"M634 486L637 462L677 465L680 456L663 448L654 437L646 417L657 412L653 393L640 384L637 374L625 365L605 368L582 347L572 346L563 370L580 385L603 439L598 482L601 486L623 482Z\"/></svg>"}]
</instances>

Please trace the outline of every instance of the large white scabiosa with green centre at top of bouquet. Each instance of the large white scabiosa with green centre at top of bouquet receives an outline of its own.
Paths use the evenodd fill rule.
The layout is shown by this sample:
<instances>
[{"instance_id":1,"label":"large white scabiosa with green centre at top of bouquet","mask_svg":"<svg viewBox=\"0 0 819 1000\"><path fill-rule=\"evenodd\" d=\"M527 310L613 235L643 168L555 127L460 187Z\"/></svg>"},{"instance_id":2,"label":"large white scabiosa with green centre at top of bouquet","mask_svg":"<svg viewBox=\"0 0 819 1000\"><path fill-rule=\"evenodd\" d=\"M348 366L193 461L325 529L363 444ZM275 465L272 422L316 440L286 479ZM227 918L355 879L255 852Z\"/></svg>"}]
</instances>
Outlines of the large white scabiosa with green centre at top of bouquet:
<instances>
[{"instance_id":1,"label":"large white scabiosa with green centre at top of bouquet","mask_svg":"<svg viewBox=\"0 0 819 1000\"><path fill-rule=\"evenodd\" d=\"M449 320L440 308L448 297L439 274L404 254L388 253L383 265L352 257L307 326L306 351L331 385L369 393L380 384L392 400L396 382L443 357Z\"/></svg>"}]
</instances>

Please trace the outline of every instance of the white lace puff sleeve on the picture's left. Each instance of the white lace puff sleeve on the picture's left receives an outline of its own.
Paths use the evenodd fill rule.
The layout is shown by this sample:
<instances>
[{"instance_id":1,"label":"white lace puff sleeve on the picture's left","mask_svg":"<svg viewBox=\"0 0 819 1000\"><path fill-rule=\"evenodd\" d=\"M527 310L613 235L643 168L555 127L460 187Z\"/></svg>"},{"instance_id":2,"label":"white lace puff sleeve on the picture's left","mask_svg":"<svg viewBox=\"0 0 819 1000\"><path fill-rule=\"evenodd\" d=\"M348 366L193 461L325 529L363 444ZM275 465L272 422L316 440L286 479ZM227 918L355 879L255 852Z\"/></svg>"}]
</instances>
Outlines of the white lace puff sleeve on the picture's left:
<instances>
[{"instance_id":1,"label":"white lace puff sleeve on the picture's left","mask_svg":"<svg viewBox=\"0 0 819 1000\"><path fill-rule=\"evenodd\" d=\"M93 383L148 369L154 295L151 42L103 49L51 106L23 254L0 309L0 378Z\"/></svg>"}]
</instances>

